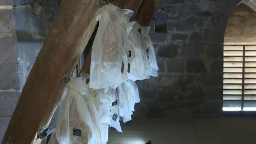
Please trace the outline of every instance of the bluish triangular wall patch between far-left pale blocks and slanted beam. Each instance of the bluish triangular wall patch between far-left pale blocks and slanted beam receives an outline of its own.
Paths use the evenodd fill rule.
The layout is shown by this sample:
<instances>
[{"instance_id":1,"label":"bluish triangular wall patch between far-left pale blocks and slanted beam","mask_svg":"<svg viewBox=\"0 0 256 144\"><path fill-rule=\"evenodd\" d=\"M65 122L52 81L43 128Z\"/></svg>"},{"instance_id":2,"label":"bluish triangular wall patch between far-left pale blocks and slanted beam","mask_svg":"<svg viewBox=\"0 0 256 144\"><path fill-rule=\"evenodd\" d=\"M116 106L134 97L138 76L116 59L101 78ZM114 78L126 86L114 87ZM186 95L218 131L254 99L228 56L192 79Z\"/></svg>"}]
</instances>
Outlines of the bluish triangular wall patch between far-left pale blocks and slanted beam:
<instances>
[{"instance_id":1,"label":"bluish triangular wall patch between far-left pale blocks and slanted beam","mask_svg":"<svg viewBox=\"0 0 256 144\"><path fill-rule=\"evenodd\" d=\"M34 65L61 0L14 0L20 89Z\"/></svg>"}]
</instances>

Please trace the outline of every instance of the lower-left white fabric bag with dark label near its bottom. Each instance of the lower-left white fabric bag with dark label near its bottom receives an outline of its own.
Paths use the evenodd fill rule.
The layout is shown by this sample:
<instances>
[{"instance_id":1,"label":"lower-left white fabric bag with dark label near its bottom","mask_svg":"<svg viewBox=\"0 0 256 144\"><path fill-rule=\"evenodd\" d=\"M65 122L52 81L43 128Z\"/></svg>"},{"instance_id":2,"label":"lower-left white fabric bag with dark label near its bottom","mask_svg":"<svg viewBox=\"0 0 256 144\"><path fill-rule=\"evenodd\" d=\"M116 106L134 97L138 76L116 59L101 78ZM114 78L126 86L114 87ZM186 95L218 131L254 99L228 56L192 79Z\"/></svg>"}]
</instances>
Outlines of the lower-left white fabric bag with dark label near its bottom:
<instances>
[{"instance_id":1,"label":"lower-left white fabric bag with dark label near its bottom","mask_svg":"<svg viewBox=\"0 0 256 144\"><path fill-rule=\"evenodd\" d=\"M56 124L59 144L100 144L100 123L86 79L71 78Z\"/></svg>"}]
</instances>

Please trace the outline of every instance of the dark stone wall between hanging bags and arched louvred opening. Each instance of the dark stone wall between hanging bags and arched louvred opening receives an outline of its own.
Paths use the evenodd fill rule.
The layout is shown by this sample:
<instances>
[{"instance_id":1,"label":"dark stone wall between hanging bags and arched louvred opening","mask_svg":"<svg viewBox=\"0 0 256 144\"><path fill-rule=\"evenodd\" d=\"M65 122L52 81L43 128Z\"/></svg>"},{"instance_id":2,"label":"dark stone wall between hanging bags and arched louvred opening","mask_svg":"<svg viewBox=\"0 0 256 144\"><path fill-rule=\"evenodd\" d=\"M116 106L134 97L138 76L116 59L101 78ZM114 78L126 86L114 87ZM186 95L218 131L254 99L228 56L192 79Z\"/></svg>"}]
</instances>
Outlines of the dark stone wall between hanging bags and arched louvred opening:
<instances>
[{"instance_id":1,"label":"dark stone wall between hanging bags and arched louvred opening","mask_svg":"<svg viewBox=\"0 0 256 144\"><path fill-rule=\"evenodd\" d=\"M159 77L138 82L135 115L222 115L224 33L239 1L161 0L151 22Z\"/></svg>"}]
</instances>

